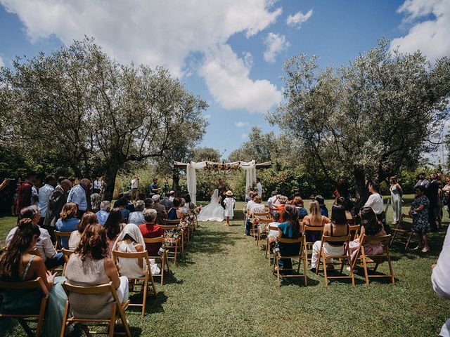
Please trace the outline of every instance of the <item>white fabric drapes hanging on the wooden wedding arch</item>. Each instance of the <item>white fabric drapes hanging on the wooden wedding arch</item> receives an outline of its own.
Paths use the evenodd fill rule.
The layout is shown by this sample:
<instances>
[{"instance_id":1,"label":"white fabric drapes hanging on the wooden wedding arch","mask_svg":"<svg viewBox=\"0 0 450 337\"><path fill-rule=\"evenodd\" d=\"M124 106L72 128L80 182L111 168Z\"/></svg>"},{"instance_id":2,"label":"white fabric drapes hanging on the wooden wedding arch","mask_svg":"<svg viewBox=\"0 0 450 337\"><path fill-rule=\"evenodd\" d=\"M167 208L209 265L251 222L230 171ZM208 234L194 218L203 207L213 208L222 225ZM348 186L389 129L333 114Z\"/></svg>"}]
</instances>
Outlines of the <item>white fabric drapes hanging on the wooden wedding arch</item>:
<instances>
[{"instance_id":1,"label":"white fabric drapes hanging on the wooden wedding arch","mask_svg":"<svg viewBox=\"0 0 450 337\"><path fill-rule=\"evenodd\" d=\"M206 164L214 164L212 161L200 161L195 163L191 161L186 168L186 179L188 180L188 193L193 204L197 203L197 173L195 170L204 169ZM252 161L235 161L233 163L226 163L228 165L239 165L245 170L245 197L248 197L248 192L253 183L256 183L256 162Z\"/></svg>"}]
</instances>

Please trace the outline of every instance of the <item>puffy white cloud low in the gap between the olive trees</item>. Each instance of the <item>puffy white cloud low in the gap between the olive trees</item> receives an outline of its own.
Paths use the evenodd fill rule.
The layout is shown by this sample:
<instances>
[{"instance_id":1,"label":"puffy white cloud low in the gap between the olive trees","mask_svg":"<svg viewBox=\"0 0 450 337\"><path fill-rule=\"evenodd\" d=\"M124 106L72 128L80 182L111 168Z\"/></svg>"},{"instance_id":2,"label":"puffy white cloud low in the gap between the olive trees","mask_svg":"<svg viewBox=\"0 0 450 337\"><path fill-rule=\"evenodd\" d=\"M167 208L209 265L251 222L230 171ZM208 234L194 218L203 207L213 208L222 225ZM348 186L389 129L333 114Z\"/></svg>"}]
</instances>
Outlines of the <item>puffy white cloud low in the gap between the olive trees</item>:
<instances>
[{"instance_id":1,"label":"puffy white cloud low in the gap between the olive trees","mask_svg":"<svg viewBox=\"0 0 450 337\"><path fill-rule=\"evenodd\" d=\"M265 79L249 78L250 68L228 44L212 48L199 70L214 99L225 109L267 112L281 101L281 91Z\"/></svg>"}]
</instances>

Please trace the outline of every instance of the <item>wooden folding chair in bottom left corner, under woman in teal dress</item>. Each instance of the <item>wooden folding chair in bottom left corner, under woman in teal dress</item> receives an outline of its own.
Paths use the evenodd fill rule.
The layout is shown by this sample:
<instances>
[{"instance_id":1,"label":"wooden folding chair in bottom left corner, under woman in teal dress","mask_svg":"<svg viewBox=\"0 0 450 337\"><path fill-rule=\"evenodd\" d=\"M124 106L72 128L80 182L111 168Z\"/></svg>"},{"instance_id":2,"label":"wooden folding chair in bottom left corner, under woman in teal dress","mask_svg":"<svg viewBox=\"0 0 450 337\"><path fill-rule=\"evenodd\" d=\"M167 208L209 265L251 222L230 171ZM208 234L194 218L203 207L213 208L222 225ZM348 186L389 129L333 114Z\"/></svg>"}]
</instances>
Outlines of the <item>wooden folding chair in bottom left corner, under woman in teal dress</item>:
<instances>
[{"instance_id":1,"label":"wooden folding chair in bottom left corner, under woman in teal dress","mask_svg":"<svg viewBox=\"0 0 450 337\"><path fill-rule=\"evenodd\" d=\"M30 291L30 289L42 291L39 312L20 312L20 314L11 312L0 314L0 320L6 317L17 319L29 337L41 336L42 326L44 324L45 308L47 299L49 298L49 291L47 290L41 277L25 282L0 282L0 289L4 291ZM36 328L32 329L29 323L36 323Z\"/></svg>"}]
</instances>

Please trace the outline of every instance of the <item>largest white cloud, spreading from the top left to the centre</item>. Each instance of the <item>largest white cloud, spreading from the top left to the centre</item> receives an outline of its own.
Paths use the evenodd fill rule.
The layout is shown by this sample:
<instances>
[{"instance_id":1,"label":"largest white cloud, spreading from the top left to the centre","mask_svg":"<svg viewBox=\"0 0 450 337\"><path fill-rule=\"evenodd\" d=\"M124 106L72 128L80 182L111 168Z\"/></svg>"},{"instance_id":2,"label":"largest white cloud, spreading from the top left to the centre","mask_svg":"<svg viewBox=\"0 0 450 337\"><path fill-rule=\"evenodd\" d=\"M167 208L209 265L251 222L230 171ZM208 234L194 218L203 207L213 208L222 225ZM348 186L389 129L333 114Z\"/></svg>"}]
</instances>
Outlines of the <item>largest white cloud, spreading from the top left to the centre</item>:
<instances>
[{"instance_id":1,"label":"largest white cloud, spreading from the top left to the centre","mask_svg":"<svg viewBox=\"0 0 450 337\"><path fill-rule=\"evenodd\" d=\"M205 63L198 68L219 67L221 74L208 74L207 85L224 107L262 111L281 96L269 81L249 79L251 54L244 55L242 61L231 51L234 66L223 60L229 37L252 37L276 21L282 10L274 8L273 0L0 0L0 4L18 15L31 41L56 36L71 44L87 35L121 62L162 65L178 77L192 73L188 60L200 53ZM212 49L219 53L211 53ZM235 81L244 82L238 84L239 91ZM243 97L231 103L217 88ZM261 89L262 94L257 95L255 91ZM264 94L269 98L257 104Z\"/></svg>"}]
</instances>

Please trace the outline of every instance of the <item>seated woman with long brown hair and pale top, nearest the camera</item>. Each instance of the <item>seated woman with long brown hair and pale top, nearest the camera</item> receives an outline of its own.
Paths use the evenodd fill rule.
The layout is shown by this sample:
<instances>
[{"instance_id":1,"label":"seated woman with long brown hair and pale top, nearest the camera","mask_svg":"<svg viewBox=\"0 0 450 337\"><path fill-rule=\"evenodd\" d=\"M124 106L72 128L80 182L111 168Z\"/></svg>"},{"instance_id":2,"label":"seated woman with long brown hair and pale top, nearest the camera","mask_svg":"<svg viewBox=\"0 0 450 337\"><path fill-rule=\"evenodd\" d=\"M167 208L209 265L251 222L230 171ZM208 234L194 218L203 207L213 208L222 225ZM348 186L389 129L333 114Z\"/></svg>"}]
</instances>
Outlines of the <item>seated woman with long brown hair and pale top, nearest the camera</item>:
<instances>
[{"instance_id":1,"label":"seated woman with long brown hair and pale top, nearest the camera","mask_svg":"<svg viewBox=\"0 0 450 337\"><path fill-rule=\"evenodd\" d=\"M106 230L101 225L88 225L65 269L68 283L74 286L97 286L113 282L121 303L128 299L128 279L119 277L117 267L108 253ZM105 319L113 305L111 293L82 295L69 293L72 315Z\"/></svg>"}]
</instances>

